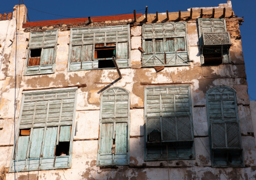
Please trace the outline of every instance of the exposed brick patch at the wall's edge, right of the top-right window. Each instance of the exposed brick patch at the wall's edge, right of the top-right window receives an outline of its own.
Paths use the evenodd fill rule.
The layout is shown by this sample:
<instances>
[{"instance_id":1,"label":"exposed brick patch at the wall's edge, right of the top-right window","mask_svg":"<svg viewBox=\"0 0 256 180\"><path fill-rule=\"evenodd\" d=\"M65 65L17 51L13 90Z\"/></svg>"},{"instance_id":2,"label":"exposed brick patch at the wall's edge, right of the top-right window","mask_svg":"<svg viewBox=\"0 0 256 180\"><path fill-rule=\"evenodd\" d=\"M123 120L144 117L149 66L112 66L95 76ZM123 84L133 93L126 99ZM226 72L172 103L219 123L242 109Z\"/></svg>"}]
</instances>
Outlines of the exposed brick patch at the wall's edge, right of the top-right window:
<instances>
[{"instance_id":1,"label":"exposed brick patch at the wall's edge, right of the top-right window","mask_svg":"<svg viewBox=\"0 0 256 180\"><path fill-rule=\"evenodd\" d=\"M229 32L230 38L241 38L239 30L239 21L237 18L226 19L227 31Z\"/></svg>"}]
</instances>

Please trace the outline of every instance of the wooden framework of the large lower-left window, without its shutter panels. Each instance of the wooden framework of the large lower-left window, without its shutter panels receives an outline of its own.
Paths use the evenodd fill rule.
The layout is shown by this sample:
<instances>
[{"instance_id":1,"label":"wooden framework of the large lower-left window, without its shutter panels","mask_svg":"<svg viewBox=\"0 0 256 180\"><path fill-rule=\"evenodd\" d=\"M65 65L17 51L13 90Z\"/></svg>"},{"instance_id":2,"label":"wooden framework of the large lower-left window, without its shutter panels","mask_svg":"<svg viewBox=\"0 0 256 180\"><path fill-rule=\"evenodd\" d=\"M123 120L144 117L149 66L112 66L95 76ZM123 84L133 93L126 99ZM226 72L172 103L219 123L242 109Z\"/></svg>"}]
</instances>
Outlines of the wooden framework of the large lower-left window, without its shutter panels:
<instances>
[{"instance_id":1,"label":"wooden framework of the large lower-left window, without its shutter panels","mask_svg":"<svg viewBox=\"0 0 256 180\"><path fill-rule=\"evenodd\" d=\"M28 141L28 149L27 149L27 152L26 152L26 158L25 160L18 160L18 165L24 165L25 163L25 167L23 168L23 166L20 166L20 168L18 167L15 167L15 172L17 171L33 171L33 170L47 170L47 169L60 169L60 168L71 168L71 159L72 159L72 147L73 147L73 137L74 137L74 131L75 131L75 116L76 116L76 100L77 100L77 87L72 87L72 88L59 88L59 89L48 89L48 90L33 90L33 91L24 91L23 92L23 97L22 97L22 103L21 103L21 109L20 109L20 113L19 113L19 119L18 119L18 125L17 125L17 130L16 130L16 143L15 143L15 146L13 148L13 152L12 152L12 158L11 158L11 163L10 163L10 170L9 172L14 172L14 164L17 166L17 159L16 159L16 148L17 148L17 145L18 145L18 140L19 140L19 137L20 137L20 130L21 129L29 129L30 130L30 134L29 134L29 141ZM73 97L68 97L67 98L70 98L70 99L74 99L74 109L73 109L73 115L72 115L72 122L69 122L68 124L65 122L65 121L60 121L60 119L58 120L58 122L54 122L54 124L50 124L51 121L47 121L48 119L48 114L49 114L49 101L50 100L56 100L56 99L67 99L67 98L61 98L61 97L57 97L57 93L67 93L69 94L70 92L73 93ZM34 120L31 122L32 125L29 124L21 124L21 119L22 119L22 112L23 112L23 107L24 107L24 101L25 101L25 98L26 98L26 95L28 96L31 96L31 98L33 99L33 96L37 96L37 95L42 95L43 94L43 98L45 98L45 95L46 94L56 94L55 95L55 99L48 99L48 107L47 107L47 115L46 115L46 120L45 120L45 123L41 123L41 124L35 124L36 122L34 122ZM62 112L62 100L61 100L61 107L60 107L60 112ZM47 101L47 99L45 100ZM26 101L28 103L30 102L35 102L35 106L36 106L36 103L37 102L40 102L40 100L31 100L31 101ZM41 101L42 102L42 101ZM34 111L35 113L35 111ZM61 115L60 115L61 116ZM34 114L34 117L35 118L35 114ZM47 123L49 123L49 125L47 125ZM61 138L60 140L60 131L62 130L62 127L68 127L70 126L71 130L70 130L70 136L68 137L70 139L69 141L69 154L68 155L63 155L63 156L56 156L55 154L55 150L56 150L56 146L58 145L58 142L62 142L63 141L63 138ZM55 150L54 150L54 158L53 157L43 157L42 154L43 154L43 151L44 151L44 145L45 145L45 136L46 136L46 133L47 133L47 129L49 128L53 128L53 127L57 127L57 131L56 131L56 144L55 144ZM43 137L42 138L42 146L41 146L41 150L40 150L40 157L29 157L29 153L30 152L30 148L31 148L31 142L33 141L33 138L32 138L32 135L33 135L33 129L42 129L43 128ZM68 128L69 129L69 128ZM62 137L62 136L61 136ZM66 137L65 137L66 138ZM32 140L30 140L32 139ZM64 141L66 142L67 140L64 139ZM68 141L67 141L68 142ZM18 152L20 152L20 150L18 149ZM66 152L67 153L67 152ZM52 160L51 159L54 159L53 163L51 162ZM67 161L61 161L61 158L62 160L65 160L65 159L68 159ZM65 159L64 159L65 158ZM53 167L48 167L48 166L41 166L41 162L42 161L45 161L44 163L48 163L47 161L48 160L51 160L50 163L53 164ZM14 163L15 161L15 163ZM38 161L38 165L37 166L29 166L30 163L32 163L32 161ZM58 165L55 166L56 162L57 161L60 161L60 163ZM20 162L20 163L19 163ZM68 165L61 165L62 164L68 164Z\"/></svg>"}]
</instances>

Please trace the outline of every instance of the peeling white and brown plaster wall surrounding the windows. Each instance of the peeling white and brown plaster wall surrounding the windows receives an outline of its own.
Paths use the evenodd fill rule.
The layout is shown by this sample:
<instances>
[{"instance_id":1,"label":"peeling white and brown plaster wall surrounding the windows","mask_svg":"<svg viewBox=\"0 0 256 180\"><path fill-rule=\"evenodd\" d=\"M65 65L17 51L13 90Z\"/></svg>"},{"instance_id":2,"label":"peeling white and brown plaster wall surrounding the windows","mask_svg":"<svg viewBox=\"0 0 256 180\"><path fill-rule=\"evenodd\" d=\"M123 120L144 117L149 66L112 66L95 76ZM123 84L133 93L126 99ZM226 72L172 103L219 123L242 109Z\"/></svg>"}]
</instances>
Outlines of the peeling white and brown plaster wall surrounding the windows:
<instances>
[{"instance_id":1,"label":"peeling white and brown plaster wall surrounding the windows","mask_svg":"<svg viewBox=\"0 0 256 180\"><path fill-rule=\"evenodd\" d=\"M231 2L221 4L220 7L215 10L216 16L221 16L223 7L226 7L228 16L231 16ZM205 12L204 16L206 17L212 13L212 8L203 8L203 10ZM201 66L198 24L196 21L196 18L199 17L200 10L198 10L198 13L196 9L193 9L193 11L195 11L194 19L187 21L189 58L193 61L190 63L190 66L165 67L160 72L156 72L153 67L142 68L142 54L138 50L139 47L142 47L142 27L138 23L131 27L131 68L120 69L123 76L120 80L117 80L119 76L115 69L67 71L69 56L68 43L70 39L70 30L68 27L66 29L59 27L55 73L24 76L27 39L30 38L29 31L32 29L21 28L19 30L18 47L19 76L17 78L17 84L19 89L17 89L17 114L20 111L23 91L77 86L78 97L75 121L78 122L78 131L73 141L71 168L19 172L19 179L168 179L168 171L170 179L255 179L256 148L254 136L248 135L248 132L253 132L253 126L247 94L241 40L239 38L237 39L236 36L231 37L232 46L230 48L230 56L232 64ZM26 12L25 9L24 12ZM189 12L187 12L187 15L189 16ZM178 13L171 13L170 18L171 16L173 18L178 17ZM159 15L159 19L164 19L164 17L166 17L166 14ZM185 19L185 17L183 18ZM142 21L144 17L140 19ZM238 20L236 18L227 18L227 21L235 22ZM129 23L129 21L123 23ZM232 26L235 26L236 30L239 30L237 23L231 23L227 25L228 31L233 30ZM42 28L34 27L33 31L36 29L37 31L41 31ZM52 28L49 26L44 29ZM3 33L0 31L0 43L3 41ZM10 53L6 55L9 57L8 62L10 61L10 63L6 68L6 75L3 75L3 81L0 81L2 87L2 101L0 104L0 127L2 127L2 130L0 129L0 166L4 165L7 168L10 165L14 143L14 52L16 50L16 41L14 39L14 43L10 47ZM1 50L0 48L0 52L2 52ZM144 161L144 87L173 84L190 85L196 157L194 160ZM245 167L211 167L206 92L210 88L219 85L229 86L236 90ZM130 165L126 166L96 166L100 95L103 90L109 87L122 87L131 93ZM7 173L7 179L14 179L14 173Z\"/></svg>"}]
</instances>

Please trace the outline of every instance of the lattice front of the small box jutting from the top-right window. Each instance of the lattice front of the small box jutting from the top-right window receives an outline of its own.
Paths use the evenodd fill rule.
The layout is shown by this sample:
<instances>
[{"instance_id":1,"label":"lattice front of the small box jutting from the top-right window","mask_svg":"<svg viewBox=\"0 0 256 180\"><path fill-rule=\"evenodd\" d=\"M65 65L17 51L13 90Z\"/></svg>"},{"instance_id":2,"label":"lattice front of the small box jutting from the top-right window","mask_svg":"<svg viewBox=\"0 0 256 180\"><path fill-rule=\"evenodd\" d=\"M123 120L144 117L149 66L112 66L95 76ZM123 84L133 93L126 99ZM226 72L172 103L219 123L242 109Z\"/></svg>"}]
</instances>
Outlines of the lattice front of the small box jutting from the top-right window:
<instances>
[{"instance_id":1,"label":"lattice front of the small box jutting from the top-right window","mask_svg":"<svg viewBox=\"0 0 256 180\"><path fill-rule=\"evenodd\" d=\"M203 33L204 45L230 45L229 33Z\"/></svg>"}]
</instances>

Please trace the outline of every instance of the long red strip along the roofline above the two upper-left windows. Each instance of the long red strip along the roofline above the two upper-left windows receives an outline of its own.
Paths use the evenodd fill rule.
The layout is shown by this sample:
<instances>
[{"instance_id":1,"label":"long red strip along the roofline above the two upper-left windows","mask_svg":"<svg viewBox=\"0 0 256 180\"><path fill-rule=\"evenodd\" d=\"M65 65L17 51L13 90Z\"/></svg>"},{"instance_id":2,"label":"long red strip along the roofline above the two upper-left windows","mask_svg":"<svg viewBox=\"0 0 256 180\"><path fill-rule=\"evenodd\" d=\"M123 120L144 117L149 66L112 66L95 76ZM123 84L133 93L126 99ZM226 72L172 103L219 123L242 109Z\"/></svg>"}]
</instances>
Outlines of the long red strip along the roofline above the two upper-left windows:
<instances>
[{"instance_id":1,"label":"long red strip along the roofline above the two upper-left windows","mask_svg":"<svg viewBox=\"0 0 256 180\"><path fill-rule=\"evenodd\" d=\"M139 18L140 16L142 16L142 13L136 14L137 18ZM120 20L129 20L129 19L134 19L134 14L91 17L92 22L120 21ZM82 23L88 23L88 18L27 22L23 24L23 28L37 27L37 26L53 26L53 25L63 25L63 24L82 24Z\"/></svg>"}]
</instances>

